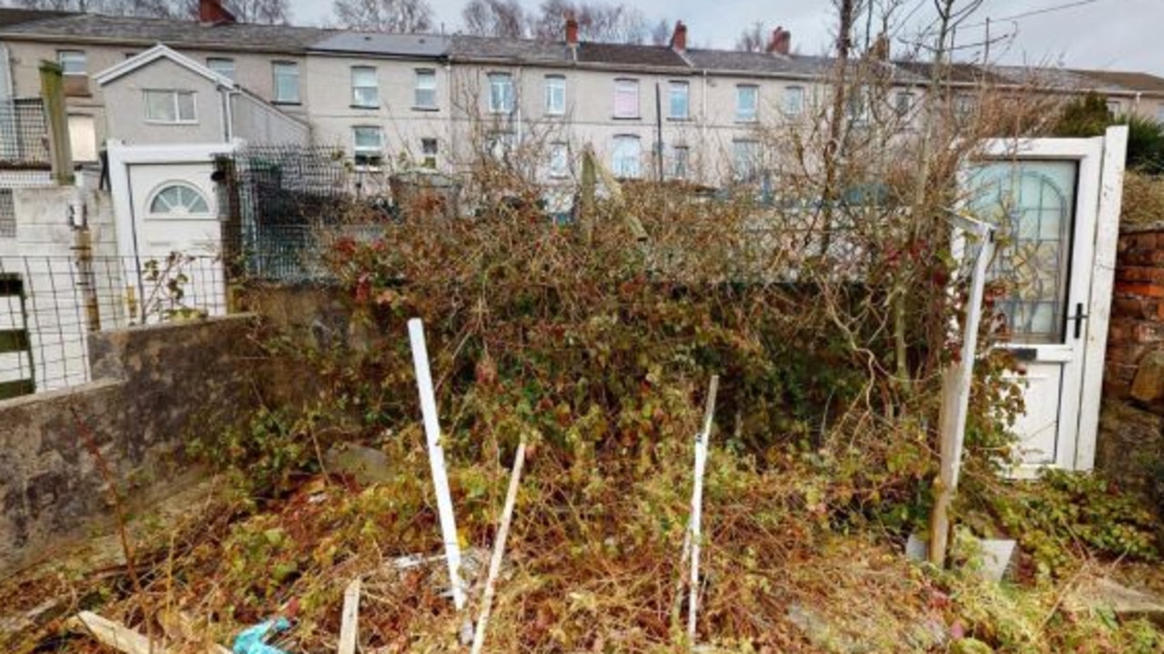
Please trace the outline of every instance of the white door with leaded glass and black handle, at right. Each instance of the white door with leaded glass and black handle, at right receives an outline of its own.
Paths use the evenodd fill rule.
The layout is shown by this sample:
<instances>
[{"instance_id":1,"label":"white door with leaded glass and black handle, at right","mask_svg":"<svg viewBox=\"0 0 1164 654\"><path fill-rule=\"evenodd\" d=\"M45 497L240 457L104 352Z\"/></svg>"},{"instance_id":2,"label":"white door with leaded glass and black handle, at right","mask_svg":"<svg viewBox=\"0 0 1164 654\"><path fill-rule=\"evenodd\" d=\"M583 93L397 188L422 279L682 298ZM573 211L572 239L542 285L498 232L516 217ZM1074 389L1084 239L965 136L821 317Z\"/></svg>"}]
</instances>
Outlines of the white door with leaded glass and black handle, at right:
<instances>
[{"instance_id":1,"label":"white door with leaded glass and black handle, at right","mask_svg":"<svg viewBox=\"0 0 1164 654\"><path fill-rule=\"evenodd\" d=\"M1102 374L1085 369L1102 158L1102 137L1038 140L968 176L972 211L996 227L987 311L1027 389L1015 424L1025 468L1077 467L1084 376Z\"/></svg>"}]
</instances>

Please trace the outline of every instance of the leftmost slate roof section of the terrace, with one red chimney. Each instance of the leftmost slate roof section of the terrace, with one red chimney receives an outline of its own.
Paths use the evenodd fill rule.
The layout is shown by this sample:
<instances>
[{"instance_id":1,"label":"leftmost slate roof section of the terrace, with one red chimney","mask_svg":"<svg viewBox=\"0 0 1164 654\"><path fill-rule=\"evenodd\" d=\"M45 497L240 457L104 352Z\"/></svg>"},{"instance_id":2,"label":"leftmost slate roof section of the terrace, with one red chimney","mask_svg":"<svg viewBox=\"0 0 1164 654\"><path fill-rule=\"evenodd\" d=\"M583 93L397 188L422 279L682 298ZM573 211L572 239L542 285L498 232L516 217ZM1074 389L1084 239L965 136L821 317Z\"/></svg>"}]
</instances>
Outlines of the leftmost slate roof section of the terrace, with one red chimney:
<instances>
[{"instance_id":1,"label":"leftmost slate roof section of the terrace, with one red chimney","mask_svg":"<svg viewBox=\"0 0 1164 654\"><path fill-rule=\"evenodd\" d=\"M72 14L0 28L0 38L71 42L169 43L207 50L299 54L335 30L275 24L201 24L197 21Z\"/></svg>"}]
</instances>

